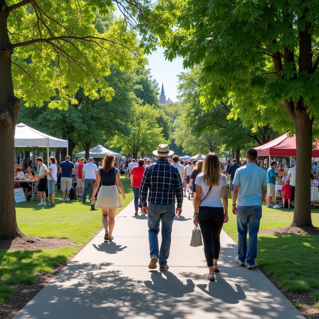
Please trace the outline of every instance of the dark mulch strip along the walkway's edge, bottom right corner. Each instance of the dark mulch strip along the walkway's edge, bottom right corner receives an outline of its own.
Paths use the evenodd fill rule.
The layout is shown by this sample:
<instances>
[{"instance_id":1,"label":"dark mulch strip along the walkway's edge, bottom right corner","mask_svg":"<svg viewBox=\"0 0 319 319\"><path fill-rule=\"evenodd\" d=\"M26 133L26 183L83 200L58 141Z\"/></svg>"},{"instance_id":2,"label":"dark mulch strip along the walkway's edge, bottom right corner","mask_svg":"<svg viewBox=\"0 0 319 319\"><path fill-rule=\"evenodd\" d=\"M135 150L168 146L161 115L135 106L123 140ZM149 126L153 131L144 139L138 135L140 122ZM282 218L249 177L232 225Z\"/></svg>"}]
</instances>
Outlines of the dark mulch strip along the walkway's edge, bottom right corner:
<instances>
[{"instance_id":1,"label":"dark mulch strip along the walkway's edge, bottom right corner","mask_svg":"<svg viewBox=\"0 0 319 319\"><path fill-rule=\"evenodd\" d=\"M308 293L287 293L279 286L278 280L268 275L263 267L259 267L259 269L292 304L295 304L295 302L299 300L300 308L298 310L302 313L302 315L304 315L307 319L319 319L319 310L312 306L314 304L314 299L310 295L310 293L312 293L315 289L312 289Z\"/></svg>"}]
</instances>

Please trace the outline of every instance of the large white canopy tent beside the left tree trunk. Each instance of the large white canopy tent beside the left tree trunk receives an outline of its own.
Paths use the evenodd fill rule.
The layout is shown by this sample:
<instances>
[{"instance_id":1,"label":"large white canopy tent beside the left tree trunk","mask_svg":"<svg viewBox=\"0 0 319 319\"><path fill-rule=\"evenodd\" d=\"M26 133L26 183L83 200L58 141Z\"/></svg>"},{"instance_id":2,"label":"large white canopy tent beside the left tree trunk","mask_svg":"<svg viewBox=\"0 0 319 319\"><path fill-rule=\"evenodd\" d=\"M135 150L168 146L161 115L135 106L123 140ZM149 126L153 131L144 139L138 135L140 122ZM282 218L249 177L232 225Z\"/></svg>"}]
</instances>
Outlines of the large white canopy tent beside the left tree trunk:
<instances>
[{"instance_id":1,"label":"large white canopy tent beside the left tree trunk","mask_svg":"<svg viewBox=\"0 0 319 319\"><path fill-rule=\"evenodd\" d=\"M68 152L69 142L34 130L24 123L16 125L14 134L14 147L47 147L49 164L49 147L65 147ZM34 165L34 152L33 152ZM49 165L48 165L49 167Z\"/></svg>"}]
</instances>

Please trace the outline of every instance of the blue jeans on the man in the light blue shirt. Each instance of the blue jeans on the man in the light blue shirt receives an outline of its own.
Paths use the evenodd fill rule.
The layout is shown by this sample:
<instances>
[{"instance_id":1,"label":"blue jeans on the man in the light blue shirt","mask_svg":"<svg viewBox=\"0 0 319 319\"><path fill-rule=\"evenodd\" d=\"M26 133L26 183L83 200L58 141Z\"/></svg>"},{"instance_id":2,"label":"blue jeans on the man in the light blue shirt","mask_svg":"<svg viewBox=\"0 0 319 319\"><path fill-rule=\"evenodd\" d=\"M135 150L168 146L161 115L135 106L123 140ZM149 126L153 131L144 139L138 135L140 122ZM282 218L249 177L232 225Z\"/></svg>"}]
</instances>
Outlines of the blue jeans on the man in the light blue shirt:
<instances>
[{"instance_id":1,"label":"blue jeans on the man in the light blue shirt","mask_svg":"<svg viewBox=\"0 0 319 319\"><path fill-rule=\"evenodd\" d=\"M238 258L242 262L246 259L249 265L255 263L257 256L257 234L261 217L261 206L237 207ZM247 232L249 233L248 248Z\"/></svg>"}]
</instances>

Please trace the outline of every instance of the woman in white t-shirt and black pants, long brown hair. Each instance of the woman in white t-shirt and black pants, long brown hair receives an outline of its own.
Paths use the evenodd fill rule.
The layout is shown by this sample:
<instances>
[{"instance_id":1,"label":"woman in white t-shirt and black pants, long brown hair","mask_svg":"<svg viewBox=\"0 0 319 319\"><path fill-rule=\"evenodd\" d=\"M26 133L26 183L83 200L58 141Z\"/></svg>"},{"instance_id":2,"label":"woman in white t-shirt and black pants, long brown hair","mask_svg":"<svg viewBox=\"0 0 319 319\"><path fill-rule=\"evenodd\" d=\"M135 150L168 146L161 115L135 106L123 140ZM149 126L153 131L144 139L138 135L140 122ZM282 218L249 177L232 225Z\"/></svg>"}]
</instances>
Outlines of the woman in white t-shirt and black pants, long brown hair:
<instances>
[{"instance_id":1,"label":"woman in white t-shirt and black pants, long brown hair","mask_svg":"<svg viewBox=\"0 0 319 319\"><path fill-rule=\"evenodd\" d=\"M202 173L196 177L196 197L194 224L199 224L204 240L204 253L209 269L206 276L215 280L215 272L219 272L217 261L220 251L220 232L228 221L228 181L221 173L218 155L208 153L204 160ZM222 198L220 195L222 194Z\"/></svg>"}]
</instances>

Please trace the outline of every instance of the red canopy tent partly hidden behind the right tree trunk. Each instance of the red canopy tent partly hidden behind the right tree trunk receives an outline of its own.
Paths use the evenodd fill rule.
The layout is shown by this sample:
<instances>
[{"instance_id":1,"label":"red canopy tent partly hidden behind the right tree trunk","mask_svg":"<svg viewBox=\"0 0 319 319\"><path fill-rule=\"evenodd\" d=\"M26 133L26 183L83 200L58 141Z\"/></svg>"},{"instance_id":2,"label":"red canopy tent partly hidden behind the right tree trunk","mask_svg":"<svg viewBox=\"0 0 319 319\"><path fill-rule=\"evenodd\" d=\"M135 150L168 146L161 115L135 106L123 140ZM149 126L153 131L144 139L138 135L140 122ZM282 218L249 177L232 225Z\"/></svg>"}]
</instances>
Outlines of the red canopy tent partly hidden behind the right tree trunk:
<instances>
[{"instance_id":1,"label":"red canopy tent partly hidden behind the right tree trunk","mask_svg":"<svg viewBox=\"0 0 319 319\"><path fill-rule=\"evenodd\" d=\"M296 156L296 136L289 137L288 133L254 147L258 156ZM316 148L312 151L312 157L319 157L319 139L315 138L315 143Z\"/></svg>"}]
</instances>

